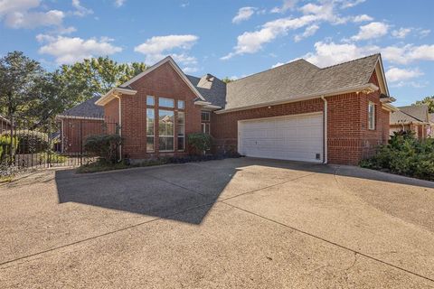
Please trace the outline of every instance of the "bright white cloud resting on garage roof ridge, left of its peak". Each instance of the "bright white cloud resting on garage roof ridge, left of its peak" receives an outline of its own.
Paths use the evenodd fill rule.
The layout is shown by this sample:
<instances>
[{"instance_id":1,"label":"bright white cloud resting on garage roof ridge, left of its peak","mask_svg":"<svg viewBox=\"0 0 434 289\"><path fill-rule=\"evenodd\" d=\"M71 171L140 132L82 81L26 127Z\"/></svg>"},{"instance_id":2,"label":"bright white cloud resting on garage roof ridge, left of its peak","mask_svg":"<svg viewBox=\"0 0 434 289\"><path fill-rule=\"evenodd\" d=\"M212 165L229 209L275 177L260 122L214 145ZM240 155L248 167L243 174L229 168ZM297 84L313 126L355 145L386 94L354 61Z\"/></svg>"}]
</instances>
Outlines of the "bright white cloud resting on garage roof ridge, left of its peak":
<instances>
[{"instance_id":1,"label":"bright white cloud resting on garage roof ridge, left of its peak","mask_svg":"<svg viewBox=\"0 0 434 289\"><path fill-rule=\"evenodd\" d=\"M315 52L307 53L304 58L319 67L352 61L380 50L377 46L357 47L353 43L336 44L335 42L316 42L315 49Z\"/></svg>"}]
</instances>

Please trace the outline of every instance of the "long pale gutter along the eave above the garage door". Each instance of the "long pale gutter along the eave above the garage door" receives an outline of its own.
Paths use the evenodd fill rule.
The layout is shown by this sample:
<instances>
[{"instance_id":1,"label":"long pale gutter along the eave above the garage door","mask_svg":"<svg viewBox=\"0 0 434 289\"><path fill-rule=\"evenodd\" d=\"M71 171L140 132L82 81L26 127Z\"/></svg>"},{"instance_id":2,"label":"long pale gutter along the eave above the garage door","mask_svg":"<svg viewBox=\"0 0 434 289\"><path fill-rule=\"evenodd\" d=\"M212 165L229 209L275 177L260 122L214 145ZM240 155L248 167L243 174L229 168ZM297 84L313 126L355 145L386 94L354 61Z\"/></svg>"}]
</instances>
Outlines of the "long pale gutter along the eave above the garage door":
<instances>
[{"instance_id":1,"label":"long pale gutter along the eave above the garage door","mask_svg":"<svg viewBox=\"0 0 434 289\"><path fill-rule=\"evenodd\" d=\"M348 89L328 90L328 91L325 91L321 94L315 93L315 94L307 95L306 97L302 97L302 98L293 98L293 99L286 99L286 100L264 102L264 103L260 103L257 105L251 105L251 106L246 106L246 107L235 107L235 108L222 109L222 110L215 111L215 113L216 114L224 114L224 113L228 113L228 112L232 112L232 111L240 111L240 110L257 108L257 107L276 106L276 105L281 105L281 104L286 104L286 103L291 103L291 102L315 99L315 98L332 97L332 96L345 94L345 93L352 93L352 92L371 93L371 92L376 91L378 89L379 89L379 87L377 87L373 83L368 83L365 85L355 86L353 88L348 88Z\"/></svg>"}]
</instances>

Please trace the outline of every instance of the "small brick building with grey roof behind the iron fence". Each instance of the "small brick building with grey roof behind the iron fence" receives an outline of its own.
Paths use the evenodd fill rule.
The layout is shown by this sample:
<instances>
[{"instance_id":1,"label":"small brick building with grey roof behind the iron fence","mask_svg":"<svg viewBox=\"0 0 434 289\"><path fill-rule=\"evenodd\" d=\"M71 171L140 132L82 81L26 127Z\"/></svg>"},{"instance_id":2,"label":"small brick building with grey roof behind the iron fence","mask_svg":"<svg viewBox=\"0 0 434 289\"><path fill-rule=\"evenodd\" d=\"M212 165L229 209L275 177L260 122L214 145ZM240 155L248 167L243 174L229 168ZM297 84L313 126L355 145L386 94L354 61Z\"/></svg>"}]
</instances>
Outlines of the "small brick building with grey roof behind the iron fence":
<instances>
[{"instance_id":1,"label":"small brick building with grey roof behind the iron fence","mask_svg":"<svg viewBox=\"0 0 434 289\"><path fill-rule=\"evenodd\" d=\"M56 118L61 122L61 153L80 153L86 137L103 133L104 109L95 105L98 99L90 98L57 115Z\"/></svg>"}]
</instances>

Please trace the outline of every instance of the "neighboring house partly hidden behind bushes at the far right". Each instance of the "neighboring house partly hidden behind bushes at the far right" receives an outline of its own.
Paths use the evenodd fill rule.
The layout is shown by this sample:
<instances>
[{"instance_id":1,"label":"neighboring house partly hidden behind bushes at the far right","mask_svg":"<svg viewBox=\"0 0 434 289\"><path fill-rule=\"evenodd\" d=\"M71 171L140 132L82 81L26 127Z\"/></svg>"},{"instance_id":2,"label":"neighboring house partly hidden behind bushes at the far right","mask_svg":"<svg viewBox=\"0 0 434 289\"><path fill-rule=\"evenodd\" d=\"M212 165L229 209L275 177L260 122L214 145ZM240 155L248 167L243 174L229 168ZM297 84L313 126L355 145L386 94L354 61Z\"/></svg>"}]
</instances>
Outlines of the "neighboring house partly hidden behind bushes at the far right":
<instances>
[{"instance_id":1,"label":"neighboring house partly hidden behind bushes at the far right","mask_svg":"<svg viewBox=\"0 0 434 289\"><path fill-rule=\"evenodd\" d=\"M393 132L410 130L419 139L433 135L434 122L429 119L428 106L398 107L398 109L399 111L391 114L391 135Z\"/></svg>"}]
</instances>

